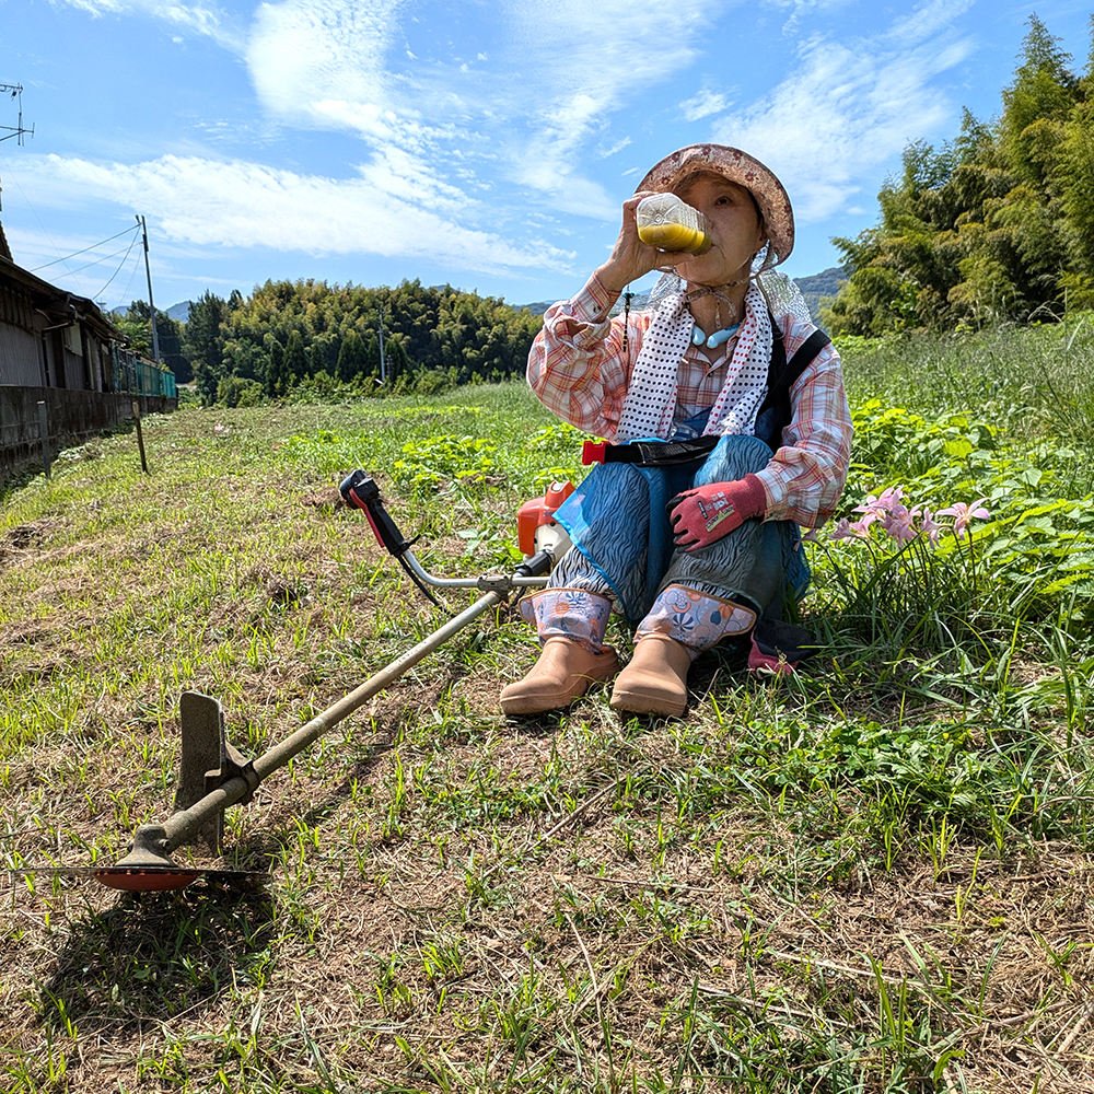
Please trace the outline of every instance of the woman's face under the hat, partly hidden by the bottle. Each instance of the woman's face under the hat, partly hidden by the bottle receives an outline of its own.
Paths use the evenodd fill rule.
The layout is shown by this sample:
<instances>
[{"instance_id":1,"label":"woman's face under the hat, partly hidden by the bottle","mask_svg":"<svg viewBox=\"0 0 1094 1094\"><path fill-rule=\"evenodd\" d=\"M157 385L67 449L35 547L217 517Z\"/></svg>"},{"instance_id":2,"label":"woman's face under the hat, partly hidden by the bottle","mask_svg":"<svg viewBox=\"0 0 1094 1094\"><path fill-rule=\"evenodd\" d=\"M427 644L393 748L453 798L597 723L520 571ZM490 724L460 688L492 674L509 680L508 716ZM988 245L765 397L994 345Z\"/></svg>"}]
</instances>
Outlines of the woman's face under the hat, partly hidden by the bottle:
<instances>
[{"instance_id":1,"label":"woman's face under the hat, partly hidden by the bottle","mask_svg":"<svg viewBox=\"0 0 1094 1094\"><path fill-rule=\"evenodd\" d=\"M767 242L756 202L743 186L702 172L685 179L677 196L707 218L711 247L676 269L695 284L725 284L748 276L753 255Z\"/></svg>"}]
</instances>

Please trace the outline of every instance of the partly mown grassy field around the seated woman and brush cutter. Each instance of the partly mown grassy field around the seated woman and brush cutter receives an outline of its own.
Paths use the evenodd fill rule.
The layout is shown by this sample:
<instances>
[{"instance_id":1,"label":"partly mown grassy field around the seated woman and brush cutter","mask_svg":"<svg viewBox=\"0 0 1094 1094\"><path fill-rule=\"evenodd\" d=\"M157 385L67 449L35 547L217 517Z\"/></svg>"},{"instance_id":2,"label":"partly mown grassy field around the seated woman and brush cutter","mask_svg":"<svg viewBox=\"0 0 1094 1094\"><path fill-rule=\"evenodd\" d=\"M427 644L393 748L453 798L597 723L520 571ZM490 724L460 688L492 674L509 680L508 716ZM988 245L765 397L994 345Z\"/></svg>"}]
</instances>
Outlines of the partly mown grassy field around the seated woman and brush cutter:
<instances>
[{"instance_id":1,"label":"partly mown grassy field around the seated woman and brush cutter","mask_svg":"<svg viewBox=\"0 0 1094 1094\"><path fill-rule=\"evenodd\" d=\"M683 719L505 719L535 641L484 617L229 811L260 889L0 875L0 1089L1094 1091L1090 330L847 371L843 515L899 486L940 528L821 531L808 671L715 650ZM447 574L510 568L580 474L521 385L144 426L147 477L120 433L0 496L7 868L168 815L182 691L256 755L469 603L342 473Z\"/></svg>"}]
</instances>

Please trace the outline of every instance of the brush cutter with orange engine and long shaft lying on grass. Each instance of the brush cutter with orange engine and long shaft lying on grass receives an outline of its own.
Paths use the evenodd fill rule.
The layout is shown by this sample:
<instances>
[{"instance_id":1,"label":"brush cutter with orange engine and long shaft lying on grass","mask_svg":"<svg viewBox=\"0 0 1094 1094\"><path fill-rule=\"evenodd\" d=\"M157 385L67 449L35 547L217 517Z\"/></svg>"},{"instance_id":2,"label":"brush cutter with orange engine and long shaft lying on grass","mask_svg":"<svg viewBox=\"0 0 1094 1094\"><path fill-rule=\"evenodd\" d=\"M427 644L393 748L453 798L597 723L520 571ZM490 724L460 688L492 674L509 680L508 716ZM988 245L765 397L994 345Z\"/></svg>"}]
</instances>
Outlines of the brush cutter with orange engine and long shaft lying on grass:
<instances>
[{"instance_id":1,"label":"brush cutter with orange engine and long shaft lying on grass","mask_svg":"<svg viewBox=\"0 0 1094 1094\"><path fill-rule=\"evenodd\" d=\"M133 833L129 853L114 866L27 868L14 872L46 873L61 877L93 876L112 888L135 892L183 888L199 877L224 884L253 884L260 880L263 875L255 872L181 866L174 862L171 853L198 840L203 840L214 852L220 853L224 811L229 806L249 802L264 779L284 767L294 756L474 619L503 604L514 590L545 584L546 574L555 560L570 545L552 514L572 490L570 484L562 486L556 482L543 499L522 507L519 516L520 543L526 557L513 573L485 574L479 578L437 578L428 573L415 558L410 547L416 540L407 540L399 532L384 509L376 484L364 472L354 472L348 476L340 487L347 505L363 510L380 545L397 559L415 584L434 604L437 600L427 586L479 589L484 595L360 687L254 759L247 759L229 742L220 702L197 691L183 693L179 702L182 757L175 812L172 816L162 825L141 825Z\"/></svg>"}]
</instances>

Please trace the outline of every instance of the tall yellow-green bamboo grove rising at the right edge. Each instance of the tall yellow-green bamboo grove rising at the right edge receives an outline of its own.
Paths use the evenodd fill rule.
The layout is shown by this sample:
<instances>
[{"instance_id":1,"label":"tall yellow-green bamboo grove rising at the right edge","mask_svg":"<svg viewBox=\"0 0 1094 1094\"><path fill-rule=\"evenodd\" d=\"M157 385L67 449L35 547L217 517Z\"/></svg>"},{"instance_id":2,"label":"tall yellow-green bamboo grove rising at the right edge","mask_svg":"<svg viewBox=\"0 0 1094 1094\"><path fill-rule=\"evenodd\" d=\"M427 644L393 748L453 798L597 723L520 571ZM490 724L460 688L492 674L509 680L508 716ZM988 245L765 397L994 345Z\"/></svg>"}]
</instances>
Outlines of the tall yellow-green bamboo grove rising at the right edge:
<instances>
[{"instance_id":1,"label":"tall yellow-green bamboo grove rising at the right edge","mask_svg":"<svg viewBox=\"0 0 1094 1094\"><path fill-rule=\"evenodd\" d=\"M998 118L964 112L935 149L909 144L878 223L835 238L847 282L833 334L1051 319L1094 307L1094 33L1083 74L1032 15ZM1094 32L1094 16L1091 20Z\"/></svg>"}]
</instances>

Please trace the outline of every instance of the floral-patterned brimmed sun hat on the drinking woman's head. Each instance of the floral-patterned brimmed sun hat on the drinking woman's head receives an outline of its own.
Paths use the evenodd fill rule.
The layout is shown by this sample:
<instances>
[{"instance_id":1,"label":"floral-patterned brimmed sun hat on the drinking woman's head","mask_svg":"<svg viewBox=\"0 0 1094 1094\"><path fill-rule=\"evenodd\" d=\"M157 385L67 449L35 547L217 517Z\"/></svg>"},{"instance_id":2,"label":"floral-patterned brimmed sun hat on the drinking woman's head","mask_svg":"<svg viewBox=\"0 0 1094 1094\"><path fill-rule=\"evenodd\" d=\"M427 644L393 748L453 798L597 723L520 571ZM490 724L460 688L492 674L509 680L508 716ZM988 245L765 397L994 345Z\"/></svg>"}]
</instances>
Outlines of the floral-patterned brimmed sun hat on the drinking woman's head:
<instances>
[{"instance_id":1,"label":"floral-patterned brimmed sun hat on the drinking woman's head","mask_svg":"<svg viewBox=\"0 0 1094 1094\"><path fill-rule=\"evenodd\" d=\"M777 266L794 249L794 211L790 198L769 167L738 148L688 144L654 164L636 190L663 193L696 171L711 171L748 190L756 199Z\"/></svg>"}]
</instances>

